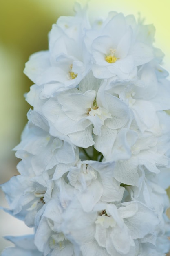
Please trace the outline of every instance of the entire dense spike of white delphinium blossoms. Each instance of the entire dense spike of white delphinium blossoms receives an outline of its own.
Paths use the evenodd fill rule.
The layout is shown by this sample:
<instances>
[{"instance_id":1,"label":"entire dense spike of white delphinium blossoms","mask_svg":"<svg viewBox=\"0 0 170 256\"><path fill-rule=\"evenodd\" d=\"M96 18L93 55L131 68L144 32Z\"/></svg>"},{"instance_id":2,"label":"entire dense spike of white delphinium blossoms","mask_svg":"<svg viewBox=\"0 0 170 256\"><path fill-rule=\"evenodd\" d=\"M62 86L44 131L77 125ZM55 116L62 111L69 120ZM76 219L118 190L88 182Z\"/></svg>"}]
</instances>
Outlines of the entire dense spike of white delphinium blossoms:
<instances>
[{"instance_id":1,"label":"entire dense spike of white delphinium blossoms","mask_svg":"<svg viewBox=\"0 0 170 256\"><path fill-rule=\"evenodd\" d=\"M2 256L164 256L170 186L170 81L155 29L87 7L60 17L24 73L33 106L2 184L8 213L35 234Z\"/></svg>"}]
</instances>

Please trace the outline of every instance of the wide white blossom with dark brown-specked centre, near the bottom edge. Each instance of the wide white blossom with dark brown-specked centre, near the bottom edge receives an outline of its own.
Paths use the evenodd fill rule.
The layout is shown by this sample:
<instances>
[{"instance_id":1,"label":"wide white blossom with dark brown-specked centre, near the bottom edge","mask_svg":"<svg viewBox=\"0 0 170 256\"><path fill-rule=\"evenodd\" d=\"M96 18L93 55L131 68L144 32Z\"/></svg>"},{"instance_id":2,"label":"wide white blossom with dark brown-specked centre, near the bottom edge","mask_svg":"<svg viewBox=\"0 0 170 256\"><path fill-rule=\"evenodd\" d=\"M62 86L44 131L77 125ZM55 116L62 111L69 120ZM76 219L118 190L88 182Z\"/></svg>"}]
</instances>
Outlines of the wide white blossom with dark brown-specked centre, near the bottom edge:
<instances>
[{"instance_id":1,"label":"wide white blossom with dark brown-specked centre, near the bottom edge","mask_svg":"<svg viewBox=\"0 0 170 256\"><path fill-rule=\"evenodd\" d=\"M159 224L154 211L138 202L106 204L101 200L86 212L77 198L68 204L63 218L62 232L75 246L80 246L83 255L87 255L88 246L105 252L104 255L138 255L139 239L148 234L155 238Z\"/></svg>"}]
</instances>

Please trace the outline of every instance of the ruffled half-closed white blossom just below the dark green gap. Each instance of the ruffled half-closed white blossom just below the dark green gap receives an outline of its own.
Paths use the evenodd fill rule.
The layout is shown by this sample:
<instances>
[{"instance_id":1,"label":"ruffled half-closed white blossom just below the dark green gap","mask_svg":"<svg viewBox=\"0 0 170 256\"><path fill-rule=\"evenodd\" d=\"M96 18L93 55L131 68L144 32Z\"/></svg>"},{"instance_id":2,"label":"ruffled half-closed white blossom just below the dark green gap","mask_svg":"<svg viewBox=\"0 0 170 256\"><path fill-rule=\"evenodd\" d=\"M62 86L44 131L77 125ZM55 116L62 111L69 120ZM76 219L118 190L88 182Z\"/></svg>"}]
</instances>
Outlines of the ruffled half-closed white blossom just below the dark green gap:
<instances>
[{"instance_id":1,"label":"ruffled half-closed white blossom just below the dark green gap","mask_svg":"<svg viewBox=\"0 0 170 256\"><path fill-rule=\"evenodd\" d=\"M121 202L123 198L124 188L114 179L114 162L78 162L70 168L68 180L78 190L75 193L86 212L91 211L99 200Z\"/></svg>"}]
</instances>

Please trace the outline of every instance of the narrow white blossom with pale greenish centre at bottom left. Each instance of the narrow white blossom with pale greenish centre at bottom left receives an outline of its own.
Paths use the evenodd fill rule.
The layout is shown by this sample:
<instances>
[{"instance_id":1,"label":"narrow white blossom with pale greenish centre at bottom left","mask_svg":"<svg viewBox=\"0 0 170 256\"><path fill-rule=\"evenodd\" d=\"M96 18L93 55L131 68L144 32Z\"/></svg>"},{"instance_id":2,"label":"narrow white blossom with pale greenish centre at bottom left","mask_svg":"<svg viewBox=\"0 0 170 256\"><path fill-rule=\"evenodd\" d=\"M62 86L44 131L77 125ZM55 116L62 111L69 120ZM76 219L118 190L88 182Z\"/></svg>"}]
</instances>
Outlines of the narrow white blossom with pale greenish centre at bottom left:
<instances>
[{"instance_id":1,"label":"narrow white blossom with pale greenish centre at bottom left","mask_svg":"<svg viewBox=\"0 0 170 256\"><path fill-rule=\"evenodd\" d=\"M62 215L73 197L73 189L60 179L56 182L51 200L47 202L42 215L35 219L35 245L44 255L72 256L74 247L61 231Z\"/></svg>"}]
</instances>

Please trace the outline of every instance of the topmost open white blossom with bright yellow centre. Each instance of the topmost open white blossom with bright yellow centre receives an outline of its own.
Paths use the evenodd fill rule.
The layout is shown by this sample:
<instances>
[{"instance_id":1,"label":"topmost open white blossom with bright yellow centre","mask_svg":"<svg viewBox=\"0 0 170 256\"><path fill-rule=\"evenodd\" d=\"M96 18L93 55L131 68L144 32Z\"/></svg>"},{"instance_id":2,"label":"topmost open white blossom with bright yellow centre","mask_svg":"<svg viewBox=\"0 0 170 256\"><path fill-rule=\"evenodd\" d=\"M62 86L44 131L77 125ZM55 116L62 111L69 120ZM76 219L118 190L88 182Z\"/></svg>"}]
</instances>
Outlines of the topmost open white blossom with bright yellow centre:
<instances>
[{"instance_id":1,"label":"topmost open white blossom with bright yellow centre","mask_svg":"<svg viewBox=\"0 0 170 256\"><path fill-rule=\"evenodd\" d=\"M100 29L87 31L85 39L93 55L94 76L123 80L135 77L137 67L153 58L152 47L135 37L122 13L103 22Z\"/></svg>"}]
</instances>

